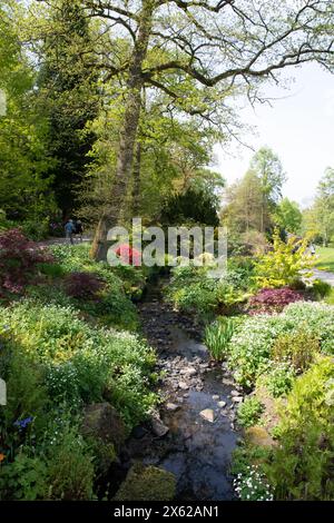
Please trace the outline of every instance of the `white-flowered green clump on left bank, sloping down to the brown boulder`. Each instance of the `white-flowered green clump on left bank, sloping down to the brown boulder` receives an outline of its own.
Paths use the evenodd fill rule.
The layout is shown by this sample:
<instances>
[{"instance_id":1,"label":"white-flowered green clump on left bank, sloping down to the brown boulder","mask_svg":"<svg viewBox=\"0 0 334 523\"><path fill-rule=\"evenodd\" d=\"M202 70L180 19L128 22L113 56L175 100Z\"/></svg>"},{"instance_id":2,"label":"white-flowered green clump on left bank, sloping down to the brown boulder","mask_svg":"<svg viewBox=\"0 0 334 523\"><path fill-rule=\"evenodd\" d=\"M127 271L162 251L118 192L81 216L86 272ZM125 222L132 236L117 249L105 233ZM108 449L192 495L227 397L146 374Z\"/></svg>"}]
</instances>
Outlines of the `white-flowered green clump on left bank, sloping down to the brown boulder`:
<instances>
[{"instance_id":1,"label":"white-flowered green clump on left bank, sloping down to the brown boulder","mask_svg":"<svg viewBox=\"0 0 334 523\"><path fill-rule=\"evenodd\" d=\"M0 308L0 322L45 373L53 402L92 403L107 394L130 426L154 404L155 356L137 336L91 327L71 307L28 300Z\"/></svg>"}]
</instances>

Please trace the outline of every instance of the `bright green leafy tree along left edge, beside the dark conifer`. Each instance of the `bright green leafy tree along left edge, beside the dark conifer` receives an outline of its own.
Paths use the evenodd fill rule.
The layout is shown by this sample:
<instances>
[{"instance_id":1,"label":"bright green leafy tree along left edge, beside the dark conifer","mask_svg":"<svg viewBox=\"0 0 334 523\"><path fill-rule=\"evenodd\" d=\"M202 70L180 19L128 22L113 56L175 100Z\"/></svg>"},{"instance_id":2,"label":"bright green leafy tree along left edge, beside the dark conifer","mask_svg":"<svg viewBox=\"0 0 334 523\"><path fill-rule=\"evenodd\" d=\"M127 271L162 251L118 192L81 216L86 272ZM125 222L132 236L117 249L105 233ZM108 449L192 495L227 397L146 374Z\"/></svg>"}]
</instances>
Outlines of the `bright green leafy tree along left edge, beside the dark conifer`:
<instances>
[{"instance_id":1,"label":"bright green leafy tree along left edge, beside the dark conifer","mask_svg":"<svg viewBox=\"0 0 334 523\"><path fill-rule=\"evenodd\" d=\"M11 219L42 219L53 210L43 137L47 121L36 109L35 71L18 33L16 2L0 6L0 208Z\"/></svg>"}]
</instances>

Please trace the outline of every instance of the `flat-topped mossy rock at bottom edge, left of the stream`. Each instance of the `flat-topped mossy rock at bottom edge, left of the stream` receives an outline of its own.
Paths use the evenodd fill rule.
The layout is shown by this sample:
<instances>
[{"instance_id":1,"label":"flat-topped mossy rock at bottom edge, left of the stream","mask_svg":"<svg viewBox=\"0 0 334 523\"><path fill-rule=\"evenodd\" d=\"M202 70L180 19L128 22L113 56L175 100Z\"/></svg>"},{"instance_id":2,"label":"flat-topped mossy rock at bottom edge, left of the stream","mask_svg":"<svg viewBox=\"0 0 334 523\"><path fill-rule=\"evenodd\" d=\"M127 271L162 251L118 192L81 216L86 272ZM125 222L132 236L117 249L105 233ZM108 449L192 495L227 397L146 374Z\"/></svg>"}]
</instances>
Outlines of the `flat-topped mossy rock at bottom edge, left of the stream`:
<instances>
[{"instance_id":1,"label":"flat-topped mossy rock at bottom edge, left of the stream","mask_svg":"<svg viewBox=\"0 0 334 523\"><path fill-rule=\"evenodd\" d=\"M176 478L170 472L136 463L129 470L114 501L171 501Z\"/></svg>"}]
</instances>

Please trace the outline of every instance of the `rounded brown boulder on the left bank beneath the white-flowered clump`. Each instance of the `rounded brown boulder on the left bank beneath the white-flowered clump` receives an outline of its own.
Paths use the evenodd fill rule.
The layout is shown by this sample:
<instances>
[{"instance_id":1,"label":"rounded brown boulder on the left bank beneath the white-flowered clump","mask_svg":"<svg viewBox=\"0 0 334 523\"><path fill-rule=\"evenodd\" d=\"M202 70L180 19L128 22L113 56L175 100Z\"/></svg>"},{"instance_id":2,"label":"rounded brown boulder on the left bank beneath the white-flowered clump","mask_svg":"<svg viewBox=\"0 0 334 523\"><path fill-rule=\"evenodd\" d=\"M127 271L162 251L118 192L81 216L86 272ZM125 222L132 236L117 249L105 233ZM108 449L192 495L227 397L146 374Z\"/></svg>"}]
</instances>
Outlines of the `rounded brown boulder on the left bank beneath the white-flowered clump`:
<instances>
[{"instance_id":1,"label":"rounded brown boulder on the left bank beneath the white-flowered clump","mask_svg":"<svg viewBox=\"0 0 334 523\"><path fill-rule=\"evenodd\" d=\"M126 440L125 424L109 403L94 403L85 408L81 432L102 443L112 443L116 448Z\"/></svg>"}]
</instances>

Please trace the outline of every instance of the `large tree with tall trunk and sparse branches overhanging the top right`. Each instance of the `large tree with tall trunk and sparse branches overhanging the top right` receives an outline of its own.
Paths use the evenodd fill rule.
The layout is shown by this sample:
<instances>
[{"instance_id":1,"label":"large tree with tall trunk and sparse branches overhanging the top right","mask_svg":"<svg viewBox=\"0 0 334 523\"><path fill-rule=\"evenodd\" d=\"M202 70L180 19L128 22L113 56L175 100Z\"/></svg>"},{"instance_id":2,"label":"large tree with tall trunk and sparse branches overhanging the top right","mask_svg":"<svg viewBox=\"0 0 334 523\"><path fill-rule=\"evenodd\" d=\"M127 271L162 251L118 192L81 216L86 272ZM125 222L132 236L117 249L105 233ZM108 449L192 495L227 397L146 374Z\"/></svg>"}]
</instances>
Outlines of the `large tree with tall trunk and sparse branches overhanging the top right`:
<instances>
[{"instance_id":1,"label":"large tree with tall trunk and sparse branches overhanging the top right","mask_svg":"<svg viewBox=\"0 0 334 523\"><path fill-rule=\"evenodd\" d=\"M131 178L144 87L170 103L210 119L215 101L240 91L257 98L261 80L285 67L333 57L332 0L82 0L88 17L105 21L110 50L99 52L105 79L126 79L110 205L92 253L106 255L106 236L119 217ZM118 52L119 49L127 52ZM178 81L176 81L176 79ZM194 96L191 82L202 87ZM218 86L213 97L210 88ZM112 196L112 197L111 197Z\"/></svg>"}]
</instances>

